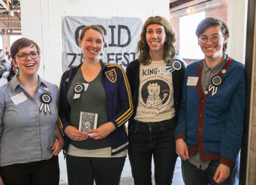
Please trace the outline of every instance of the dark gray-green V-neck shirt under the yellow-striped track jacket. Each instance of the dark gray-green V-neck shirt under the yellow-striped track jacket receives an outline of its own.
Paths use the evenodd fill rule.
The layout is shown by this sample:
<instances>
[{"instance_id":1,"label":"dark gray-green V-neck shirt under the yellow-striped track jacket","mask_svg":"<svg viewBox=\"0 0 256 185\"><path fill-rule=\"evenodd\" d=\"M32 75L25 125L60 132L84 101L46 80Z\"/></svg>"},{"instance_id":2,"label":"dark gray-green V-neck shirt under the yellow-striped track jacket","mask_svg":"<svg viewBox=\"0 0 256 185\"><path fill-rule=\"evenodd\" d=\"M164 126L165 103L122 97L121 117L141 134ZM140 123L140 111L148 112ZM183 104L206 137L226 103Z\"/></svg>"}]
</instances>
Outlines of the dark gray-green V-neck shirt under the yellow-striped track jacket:
<instances>
[{"instance_id":1,"label":"dark gray-green V-neck shirt under the yellow-striped track jacket","mask_svg":"<svg viewBox=\"0 0 256 185\"><path fill-rule=\"evenodd\" d=\"M68 89L68 105L70 106L70 124L79 128L80 112L90 112L98 114L97 128L108 122L107 105L106 105L106 93L102 84L102 73L92 82L86 82L83 78L81 68L77 70L74 79ZM86 91L83 91L79 98L74 98L74 87L77 83L83 83L88 85ZM110 147L110 135L102 140L94 140L88 138L84 141L70 140L70 144L74 145L78 149L102 149L104 147Z\"/></svg>"}]
</instances>

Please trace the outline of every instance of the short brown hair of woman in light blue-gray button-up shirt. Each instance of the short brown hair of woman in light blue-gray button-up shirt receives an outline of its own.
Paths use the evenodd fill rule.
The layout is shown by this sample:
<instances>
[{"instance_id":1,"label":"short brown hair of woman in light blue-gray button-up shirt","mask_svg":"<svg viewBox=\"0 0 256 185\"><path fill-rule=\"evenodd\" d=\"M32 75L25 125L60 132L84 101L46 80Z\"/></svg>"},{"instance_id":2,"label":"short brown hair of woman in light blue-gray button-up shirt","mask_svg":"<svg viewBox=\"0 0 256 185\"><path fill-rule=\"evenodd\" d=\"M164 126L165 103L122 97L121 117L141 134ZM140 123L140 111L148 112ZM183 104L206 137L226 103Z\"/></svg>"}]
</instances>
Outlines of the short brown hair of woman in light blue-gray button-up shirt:
<instances>
[{"instance_id":1,"label":"short brown hair of woman in light blue-gray button-up shirt","mask_svg":"<svg viewBox=\"0 0 256 185\"><path fill-rule=\"evenodd\" d=\"M35 41L33 40L29 40L28 38L19 38L18 40L15 40L12 43L12 46L10 48L10 52L11 52L11 57L14 59L15 56L18 54L19 50L21 48L24 47L36 47L36 50L39 52L40 54L40 48L38 47L38 45L35 43Z\"/></svg>"}]
</instances>

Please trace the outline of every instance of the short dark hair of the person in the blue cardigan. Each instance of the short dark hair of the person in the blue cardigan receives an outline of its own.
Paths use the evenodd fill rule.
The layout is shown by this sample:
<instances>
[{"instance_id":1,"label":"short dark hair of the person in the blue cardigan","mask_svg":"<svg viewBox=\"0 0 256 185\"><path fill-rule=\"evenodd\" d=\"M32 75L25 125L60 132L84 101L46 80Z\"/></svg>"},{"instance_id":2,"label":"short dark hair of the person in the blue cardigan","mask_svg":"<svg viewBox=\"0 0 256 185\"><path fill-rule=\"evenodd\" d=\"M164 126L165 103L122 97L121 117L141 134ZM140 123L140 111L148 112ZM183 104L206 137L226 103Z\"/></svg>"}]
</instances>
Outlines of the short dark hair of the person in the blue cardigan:
<instances>
[{"instance_id":1,"label":"short dark hair of the person in the blue cardigan","mask_svg":"<svg viewBox=\"0 0 256 185\"><path fill-rule=\"evenodd\" d=\"M229 29L227 24L223 22L219 18L213 18L213 17L207 17L204 20L202 20L198 26L196 27L196 36L199 38L200 34L203 34L206 29L212 26L220 26L221 33L223 36L229 36ZM223 53L225 53L227 50L227 42L223 45Z\"/></svg>"}]
</instances>

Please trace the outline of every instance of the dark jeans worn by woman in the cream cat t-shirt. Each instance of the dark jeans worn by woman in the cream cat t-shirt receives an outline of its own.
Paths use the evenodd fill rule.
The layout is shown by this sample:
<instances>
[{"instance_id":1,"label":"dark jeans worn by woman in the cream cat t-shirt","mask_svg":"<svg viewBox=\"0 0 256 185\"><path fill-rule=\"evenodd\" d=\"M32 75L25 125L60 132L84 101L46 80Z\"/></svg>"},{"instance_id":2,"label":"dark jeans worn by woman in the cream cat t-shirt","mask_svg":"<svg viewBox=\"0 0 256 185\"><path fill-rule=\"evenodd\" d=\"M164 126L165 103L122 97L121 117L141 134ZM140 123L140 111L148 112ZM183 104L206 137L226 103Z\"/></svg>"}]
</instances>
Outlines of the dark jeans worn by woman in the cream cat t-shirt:
<instances>
[{"instance_id":1,"label":"dark jeans worn by woman in the cream cat t-shirt","mask_svg":"<svg viewBox=\"0 0 256 185\"><path fill-rule=\"evenodd\" d=\"M128 154L136 185L152 184L152 156L156 185L172 184L177 160L175 153L175 119L162 122L138 122L129 127Z\"/></svg>"}]
</instances>

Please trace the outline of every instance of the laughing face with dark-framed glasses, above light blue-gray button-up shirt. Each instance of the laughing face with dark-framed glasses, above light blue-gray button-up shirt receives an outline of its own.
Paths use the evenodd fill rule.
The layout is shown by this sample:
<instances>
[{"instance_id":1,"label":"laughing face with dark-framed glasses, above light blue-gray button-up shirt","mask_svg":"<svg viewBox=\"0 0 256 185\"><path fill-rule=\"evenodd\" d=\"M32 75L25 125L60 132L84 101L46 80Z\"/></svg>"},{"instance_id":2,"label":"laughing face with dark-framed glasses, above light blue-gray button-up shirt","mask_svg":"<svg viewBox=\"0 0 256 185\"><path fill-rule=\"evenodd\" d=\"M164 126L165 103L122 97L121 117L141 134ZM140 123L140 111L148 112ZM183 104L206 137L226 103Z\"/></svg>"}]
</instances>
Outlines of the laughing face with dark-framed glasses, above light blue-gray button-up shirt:
<instances>
[{"instance_id":1,"label":"laughing face with dark-framed glasses, above light blue-gray button-up shirt","mask_svg":"<svg viewBox=\"0 0 256 185\"><path fill-rule=\"evenodd\" d=\"M17 55L22 56L22 54L31 54L33 56L33 53L38 52L38 50L36 50L36 47L24 47L24 48L20 48L19 52L17 53ZM28 76L31 77L33 75L37 75L37 71L38 68L40 66L40 56L38 56L35 59L32 59L31 56L28 55L27 59L25 60L20 60L19 57L15 57L15 59L13 60L15 66L17 66L17 68L19 68L19 73L20 75L24 75L24 76Z\"/></svg>"}]
</instances>

